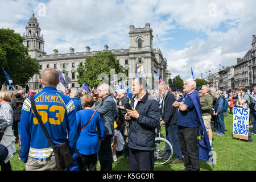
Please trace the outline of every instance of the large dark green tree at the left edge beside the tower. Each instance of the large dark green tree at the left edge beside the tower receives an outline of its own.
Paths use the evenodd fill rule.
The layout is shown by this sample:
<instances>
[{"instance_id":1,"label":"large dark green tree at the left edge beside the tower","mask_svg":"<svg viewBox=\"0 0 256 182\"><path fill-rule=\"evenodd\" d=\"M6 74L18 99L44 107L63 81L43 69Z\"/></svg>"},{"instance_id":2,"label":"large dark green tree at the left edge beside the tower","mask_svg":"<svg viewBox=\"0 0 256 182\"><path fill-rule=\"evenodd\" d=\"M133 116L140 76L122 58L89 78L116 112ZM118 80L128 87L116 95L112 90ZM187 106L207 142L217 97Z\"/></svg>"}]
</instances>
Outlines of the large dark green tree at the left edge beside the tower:
<instances>
[{"instance_id":1,"label":"large dark green tree at the left edge beside the tower","mask_svg":"<svg viewBox=\"0 0 256 182\"><path fill-rule=\"evenodd\" d=\"M24 88L32 76L39 74L40 68L38 62L28 55L27 47L23 46L23 37L5 28L0 29L0 67L0 90L3 84L9 85L3 69L13 80L12 85Z\"/></svg>"}]
</instances>

